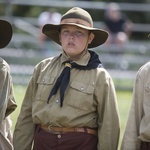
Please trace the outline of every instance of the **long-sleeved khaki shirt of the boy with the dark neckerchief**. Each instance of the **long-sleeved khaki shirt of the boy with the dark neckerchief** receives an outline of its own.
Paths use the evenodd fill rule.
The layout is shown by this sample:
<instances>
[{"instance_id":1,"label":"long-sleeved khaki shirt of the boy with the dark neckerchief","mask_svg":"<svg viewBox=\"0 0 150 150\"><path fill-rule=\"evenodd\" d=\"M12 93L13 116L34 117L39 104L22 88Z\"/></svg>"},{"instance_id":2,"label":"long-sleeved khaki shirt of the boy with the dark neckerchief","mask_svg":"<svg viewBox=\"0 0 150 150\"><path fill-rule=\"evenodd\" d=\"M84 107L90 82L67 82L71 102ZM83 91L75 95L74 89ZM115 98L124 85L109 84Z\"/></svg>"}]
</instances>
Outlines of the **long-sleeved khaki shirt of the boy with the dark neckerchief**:
<instances>
[{"instance_id":1,"label":"long-sleeved khaki shirt of the boy with the dark neckerchief","mask_svg":"<svg viewBox=\"0 0 150 150\"><path fill-rule=\"evenodd\" d=\"M87 65L90 54L76 61ZM71 69L70 83L60 107L59 91L49 104L47 99L67 56L48 58L34 70L22 104L15 132L15 150L30 150L35 124L57 127L98 127L98 150L116 150L119 139L119 116L113 81L104 68Z\"/></svg>"}]
</instances>

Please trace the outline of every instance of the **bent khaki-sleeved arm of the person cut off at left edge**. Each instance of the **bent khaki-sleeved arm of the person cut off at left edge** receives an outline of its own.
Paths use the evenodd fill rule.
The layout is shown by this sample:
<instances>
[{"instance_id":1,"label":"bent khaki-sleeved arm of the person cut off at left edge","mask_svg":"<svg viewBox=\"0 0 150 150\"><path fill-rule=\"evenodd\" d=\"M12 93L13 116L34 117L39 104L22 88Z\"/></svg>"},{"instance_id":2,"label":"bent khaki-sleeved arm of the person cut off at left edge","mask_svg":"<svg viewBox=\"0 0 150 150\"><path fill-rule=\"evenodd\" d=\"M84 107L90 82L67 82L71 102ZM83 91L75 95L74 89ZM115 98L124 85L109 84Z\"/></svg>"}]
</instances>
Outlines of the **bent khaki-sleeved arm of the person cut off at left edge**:
<instances>
[{"instance_id":1,"label":"bent khaki-sleeved arm of the person cut off at left edge","mask_svg":"<svg viewBox=\"0 0 150 150\"><path fill-rule=\"evenodd\" d=\"M9 66L2 60L0 61L0 122L10 115L16 107Z\"/></svg>"}]
</instances>

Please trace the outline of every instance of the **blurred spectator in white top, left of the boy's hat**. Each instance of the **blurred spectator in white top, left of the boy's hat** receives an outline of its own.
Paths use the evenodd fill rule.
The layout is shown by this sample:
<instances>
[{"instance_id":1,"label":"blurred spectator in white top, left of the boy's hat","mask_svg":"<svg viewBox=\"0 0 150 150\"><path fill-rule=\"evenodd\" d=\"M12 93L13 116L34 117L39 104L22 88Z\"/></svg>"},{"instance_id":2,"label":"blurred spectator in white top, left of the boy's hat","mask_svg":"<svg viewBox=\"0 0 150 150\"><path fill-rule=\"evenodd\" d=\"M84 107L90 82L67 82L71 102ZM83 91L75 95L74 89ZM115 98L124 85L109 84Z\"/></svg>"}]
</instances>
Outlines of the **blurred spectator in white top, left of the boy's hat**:
<instances>
[{"instance_id":1,"label":"blurred spectator in white top, left of the boy's hat","mask_svg":"<svg viewBox=\"0 0 150 150\"><path fill-rule=\"evenodd\" d=\"M42 12L38 17L38 26L40 29L38 40L41 43L45 55L49 55L54 49L56 49L57 45L42 33L42 28L48 23L59 24L60 19L61 14L57 12L55 8L50 8L47 11Z\"/></svg>"}]
</instances>

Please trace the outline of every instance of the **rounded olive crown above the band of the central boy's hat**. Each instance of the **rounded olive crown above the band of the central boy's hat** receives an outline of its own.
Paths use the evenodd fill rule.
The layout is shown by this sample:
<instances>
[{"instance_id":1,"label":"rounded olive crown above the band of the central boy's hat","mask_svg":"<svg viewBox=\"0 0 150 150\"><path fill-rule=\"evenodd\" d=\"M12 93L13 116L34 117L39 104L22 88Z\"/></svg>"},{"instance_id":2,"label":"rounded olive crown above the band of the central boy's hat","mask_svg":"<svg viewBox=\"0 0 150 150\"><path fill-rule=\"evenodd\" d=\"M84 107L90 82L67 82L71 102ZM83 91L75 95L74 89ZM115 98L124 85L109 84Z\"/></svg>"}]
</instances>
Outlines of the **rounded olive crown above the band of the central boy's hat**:
<instances>
[{"instance_id":1,"label":"rounded olive crown above the band of the central boy's hat","mask_svg":"<svg viewBox=\"0 0 150 150\"><path fill-rule=\"evenodd\" d=\"M62 16L61 21L65 20L65 19L71 19L71 18L84 20L84 21L88 22L91 27L93 27L93 20L92 20L91 15L87 11L85 11L79 7L74 7L72 9L70 9L68 12L66 12Z\"/></svg>"}]
</instances>

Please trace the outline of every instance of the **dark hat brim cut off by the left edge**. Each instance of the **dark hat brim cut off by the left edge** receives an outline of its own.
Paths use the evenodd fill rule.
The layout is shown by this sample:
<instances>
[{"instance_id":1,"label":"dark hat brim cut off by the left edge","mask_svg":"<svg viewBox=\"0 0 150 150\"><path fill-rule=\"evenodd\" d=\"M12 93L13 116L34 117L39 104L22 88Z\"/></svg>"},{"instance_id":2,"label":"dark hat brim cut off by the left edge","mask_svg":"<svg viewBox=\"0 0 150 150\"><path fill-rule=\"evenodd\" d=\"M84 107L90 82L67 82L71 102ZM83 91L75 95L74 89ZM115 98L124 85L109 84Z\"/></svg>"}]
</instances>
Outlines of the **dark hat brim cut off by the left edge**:
<instances>
[{"instance_id":1,"label":"dark hat brim cut off by the left edge","mask_svg":"<svg viewBox=\"0 0 150 150\"><path fill-rule=\"evenodd\" d=\"M0 48L8 45L12 38L12 26L8 21L0 19Z\"/></svg>"}]
</instances>

